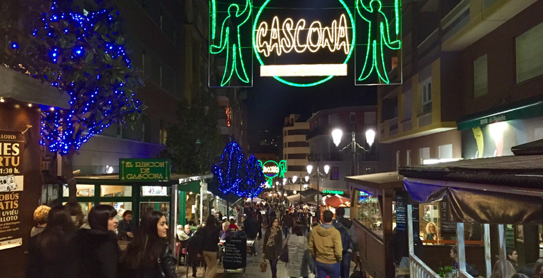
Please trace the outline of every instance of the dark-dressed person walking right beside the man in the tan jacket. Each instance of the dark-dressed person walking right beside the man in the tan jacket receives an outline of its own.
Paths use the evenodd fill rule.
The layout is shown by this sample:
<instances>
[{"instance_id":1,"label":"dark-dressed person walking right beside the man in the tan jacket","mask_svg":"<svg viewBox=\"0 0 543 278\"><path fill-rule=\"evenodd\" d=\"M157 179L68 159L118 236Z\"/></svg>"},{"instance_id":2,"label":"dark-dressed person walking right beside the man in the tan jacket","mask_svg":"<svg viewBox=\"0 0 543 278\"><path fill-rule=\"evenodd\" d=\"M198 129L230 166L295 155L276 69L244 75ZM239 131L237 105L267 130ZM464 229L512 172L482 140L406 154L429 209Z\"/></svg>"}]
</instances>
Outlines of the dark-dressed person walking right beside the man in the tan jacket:
<instances>
[{"instance_id":1,"label":"dark-dressed person walking right beside the man in the tan jacket","mask_svg":"<svg viewBox=\"0 0 543 278\"><path fill-rule=\"evenodd\" d=\"M359 261L359 245L354 234L354 226L352 221L344 218L345 208L339 207L336 209L336 220L333 221L335 227L341 236L341 244L343 248L342 259L340 263L341 278L349 278L351 270L352 252L356 252L356 261Z\"/></svg>"}]
</instances>

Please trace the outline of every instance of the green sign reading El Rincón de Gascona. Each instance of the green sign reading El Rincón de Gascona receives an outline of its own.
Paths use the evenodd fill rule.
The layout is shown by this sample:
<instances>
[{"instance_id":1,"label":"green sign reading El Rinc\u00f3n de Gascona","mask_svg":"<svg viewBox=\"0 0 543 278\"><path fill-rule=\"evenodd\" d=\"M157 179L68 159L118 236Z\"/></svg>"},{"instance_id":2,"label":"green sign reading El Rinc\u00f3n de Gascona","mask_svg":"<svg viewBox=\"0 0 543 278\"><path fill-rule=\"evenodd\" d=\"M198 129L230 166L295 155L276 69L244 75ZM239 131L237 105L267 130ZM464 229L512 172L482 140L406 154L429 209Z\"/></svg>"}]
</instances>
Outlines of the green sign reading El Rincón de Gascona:
<instances>
[{"instance_id":1,"label":"green sign reading El Rinc\u00f3n de Gascona","mask_svg":"<svg viewBox=\"0 0 543 278\"><path fill-rule=\"evenodd\" d=\"M170 170L167 159L119 159L121 181L169 181Z\"/></svg>"}]
</instances>

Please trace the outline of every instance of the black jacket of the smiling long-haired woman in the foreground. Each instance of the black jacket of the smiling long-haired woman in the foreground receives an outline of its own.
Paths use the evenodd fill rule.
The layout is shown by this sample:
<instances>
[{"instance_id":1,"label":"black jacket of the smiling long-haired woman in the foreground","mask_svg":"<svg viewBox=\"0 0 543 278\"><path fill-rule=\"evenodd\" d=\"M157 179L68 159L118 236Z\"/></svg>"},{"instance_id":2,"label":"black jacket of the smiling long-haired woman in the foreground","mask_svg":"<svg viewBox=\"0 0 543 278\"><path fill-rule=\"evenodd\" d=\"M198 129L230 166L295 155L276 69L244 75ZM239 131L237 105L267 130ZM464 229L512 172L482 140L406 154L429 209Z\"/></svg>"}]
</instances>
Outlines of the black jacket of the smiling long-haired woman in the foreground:
<instances>
[{"instance_id":1,"label":"black jacket of the smiling long-haired woman in the foreground","mask_svg":"<svg viewBox=\"0 0 543 278\"><path fill-rule=\"evenodd\" d=\"M136 269L123 268L120 278L178 278L175 274L177 261L173 258L171 246L162 241L160 244L160 259L152 266L142 266Z\"/></svg>"}]
</instances>

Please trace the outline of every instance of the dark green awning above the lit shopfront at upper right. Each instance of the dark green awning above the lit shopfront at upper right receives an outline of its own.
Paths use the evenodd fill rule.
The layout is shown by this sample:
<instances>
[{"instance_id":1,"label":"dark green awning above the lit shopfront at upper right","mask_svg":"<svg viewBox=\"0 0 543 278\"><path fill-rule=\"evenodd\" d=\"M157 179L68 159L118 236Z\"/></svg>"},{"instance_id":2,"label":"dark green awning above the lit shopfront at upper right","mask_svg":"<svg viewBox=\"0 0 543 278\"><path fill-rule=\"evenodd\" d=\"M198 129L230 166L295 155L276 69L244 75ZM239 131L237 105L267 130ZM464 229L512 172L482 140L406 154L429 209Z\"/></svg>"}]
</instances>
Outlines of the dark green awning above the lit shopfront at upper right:
<instances>
[{"instance_id":1,"label":"dark green awning above the lit shopfront at upper right","mask_svg":"<svg viewBox=\"0 0 543 278\"><path fill-rule=\"evenodd\" d=\"M473 129L494 122L528 119L543 116L543 96L515 101L505 106L466 115L457 121L458 130Z\"/></svg>"}]
</instances>

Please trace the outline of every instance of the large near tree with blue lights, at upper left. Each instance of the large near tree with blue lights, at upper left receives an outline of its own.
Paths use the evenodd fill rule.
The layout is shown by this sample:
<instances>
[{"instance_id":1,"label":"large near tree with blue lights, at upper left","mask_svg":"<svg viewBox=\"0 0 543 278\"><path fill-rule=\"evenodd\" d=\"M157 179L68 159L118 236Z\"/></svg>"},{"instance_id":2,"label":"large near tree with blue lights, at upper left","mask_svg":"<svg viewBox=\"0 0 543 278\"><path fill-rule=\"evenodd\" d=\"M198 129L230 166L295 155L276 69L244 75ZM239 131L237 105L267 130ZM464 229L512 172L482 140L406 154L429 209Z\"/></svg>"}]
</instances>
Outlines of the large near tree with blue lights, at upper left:
<instances>
[{"instance_id":1,"label":"large near tree with blue lights, at upper left","mask_svg":"<svg viewBox=\"0 0 543 278\"><path fill-rule=\"evenodd\" d=\"M77 149L113 123L134 122L143 82L130 66L118 12L73 10L71 1L1 1L0 63L70 94L70 108L42 107L41 144L63 156L70 199L76 196ZM60 165L59 165L60 166Z\"/></svg>"}]
</instances>

